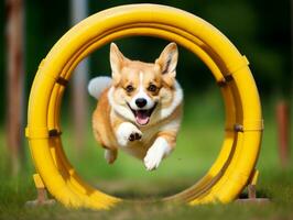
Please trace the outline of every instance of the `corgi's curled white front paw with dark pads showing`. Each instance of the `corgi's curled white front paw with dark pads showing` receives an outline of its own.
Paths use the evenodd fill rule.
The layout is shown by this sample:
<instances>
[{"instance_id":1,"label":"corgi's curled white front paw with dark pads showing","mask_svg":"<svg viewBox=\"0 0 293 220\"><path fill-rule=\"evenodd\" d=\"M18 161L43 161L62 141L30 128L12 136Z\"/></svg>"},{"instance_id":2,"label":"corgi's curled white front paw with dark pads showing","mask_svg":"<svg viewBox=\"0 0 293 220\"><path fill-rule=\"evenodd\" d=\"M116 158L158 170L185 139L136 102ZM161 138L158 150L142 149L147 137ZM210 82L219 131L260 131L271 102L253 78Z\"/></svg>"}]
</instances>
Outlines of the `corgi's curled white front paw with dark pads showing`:
<instances>
[{"instance_id":1,"label":"corgi's curled white front paw with dark pads showing","mask_svg":"<svg viewBox=\"0 0 293 220\"><path fill-rule=\"evenodd\" d=\"M120 146L127 146L129 142L140 140L141 131L130 122L123 122L116 131L116 138Z\"/></svg>"}]
</instances>

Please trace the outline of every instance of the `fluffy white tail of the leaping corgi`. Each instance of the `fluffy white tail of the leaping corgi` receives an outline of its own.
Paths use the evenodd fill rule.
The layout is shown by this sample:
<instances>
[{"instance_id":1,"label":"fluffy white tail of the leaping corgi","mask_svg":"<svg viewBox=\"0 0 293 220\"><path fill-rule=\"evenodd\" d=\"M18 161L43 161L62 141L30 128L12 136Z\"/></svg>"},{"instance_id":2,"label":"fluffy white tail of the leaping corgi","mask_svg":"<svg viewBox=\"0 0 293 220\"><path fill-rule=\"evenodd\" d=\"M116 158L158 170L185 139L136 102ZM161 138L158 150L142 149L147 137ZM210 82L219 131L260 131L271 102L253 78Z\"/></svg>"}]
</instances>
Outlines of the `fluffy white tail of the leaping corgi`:
<instances>
[{"instance_id":1,"label":"fluffy white tail of the leaping corgi","mask_svg":"<svg viewBox=\"0 0 293 220\"><path fill-rule=\"evenodd\" d=\"M112 79L108 76L98 76L88 82L87 89L90 96L99 99L101 92L111 86Z\"/></svg>"}]
</instances>

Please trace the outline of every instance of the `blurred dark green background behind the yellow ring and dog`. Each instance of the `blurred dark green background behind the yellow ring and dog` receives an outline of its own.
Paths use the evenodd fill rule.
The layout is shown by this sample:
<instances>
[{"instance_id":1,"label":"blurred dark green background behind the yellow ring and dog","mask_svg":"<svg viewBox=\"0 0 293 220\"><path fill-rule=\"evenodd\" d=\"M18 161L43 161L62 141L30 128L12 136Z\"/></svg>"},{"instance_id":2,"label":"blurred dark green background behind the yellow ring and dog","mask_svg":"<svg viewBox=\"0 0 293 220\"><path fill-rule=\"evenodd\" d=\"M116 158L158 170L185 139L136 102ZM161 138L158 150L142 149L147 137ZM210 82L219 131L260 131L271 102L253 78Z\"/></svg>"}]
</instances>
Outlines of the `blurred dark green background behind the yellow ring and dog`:
<instances>
[{"instance_id":1,"label":"blurred dark green background behind the yellow ring and dog","mask_svg":"<svg viewBox=\"0 0 293 220\"><path fill-rule=\"evenodd\" d=\"M223 0L223 1L88 1L89 14L110 7L127 3L161 3L194 13L219 29L250 62L263 109L265 130L262 152L258 163L261 172L261 190L264 195L278 195L282 180L289 183L293 195L292 178L280 166L278 152L278 130L275 107L285 100L292 109L292 23L290 1ZM0 100L6 100L6 8L0 4ZM69 1L25 1L25 88L24 116L26 103L40 62L55 42L70 29ZM116 42L122 53L132 59L153 62L164 46L164 40L152 37L129 37ZM109 75L109 45L90 55L89 77ZM70 94L66 90L62 108L62 128L65 152L78 173L102 190L122 197L160 197L171 195L194 184L210 167L220 150L224 135L224 106L219 88L200 61L191 52L180 47L177 79L184 88L185 110L177 147L155 172L145 172L143 164L121 153L115 165L104 160L102 150L91 134L90 114L95 100L89 100L86 144L82 152L75 147L73 139L73 116ZM72 82L70 82L72 84ZM72 85L69 85L70 87ZM292 112L292 111L291 111ZM25 199L33 198L33 165L25 145L25 163L18 177L11 176L6 145L6 101L0 102L0 199L7 200L6 191L19 195L19 200L8 199L8 204L20 207ZM26 119L24 119L26 120ZM290 121L292 122L292 120ZM26 121L23 123L25 127ZM290 123L292 124L292 123ZM292 135L292 132L291 132ZM292 145L291 145L292 148ZM292 170L292 160L289 170ZM24 180L23 180L24 179ZM6 184L4 184L6 183ZM172 184L170 184L172 183ZM268 185L273 186L271 189ZM267 190L267 191L265 191ZM24 193L23 193L24 191ZM286 204L287 200L285 200ZM286 205L289 205L287 202ZM292 205L292 204L290 204ZM14 205L15 206L15 205ZM1 206L0 206L1 210ZM11 208L10 212L13 212ZM0 211L1 212L1 211ZM9 213L10 213L9 212Z\"/></svg>"}]
</instances>

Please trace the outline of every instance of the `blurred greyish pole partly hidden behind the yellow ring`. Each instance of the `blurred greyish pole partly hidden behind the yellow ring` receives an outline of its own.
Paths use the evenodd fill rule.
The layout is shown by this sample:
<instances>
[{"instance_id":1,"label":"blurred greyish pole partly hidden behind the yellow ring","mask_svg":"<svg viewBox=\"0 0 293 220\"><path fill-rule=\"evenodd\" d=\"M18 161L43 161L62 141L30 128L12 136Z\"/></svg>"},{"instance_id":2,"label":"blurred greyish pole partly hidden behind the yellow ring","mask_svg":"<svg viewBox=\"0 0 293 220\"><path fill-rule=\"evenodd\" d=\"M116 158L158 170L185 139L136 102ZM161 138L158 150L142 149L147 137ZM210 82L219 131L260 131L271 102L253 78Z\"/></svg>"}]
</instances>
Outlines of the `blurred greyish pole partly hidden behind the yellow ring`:
<instances>
[{"instance_id":1,"label":"blurred greyish pole partly hidden behind the yellow ring","mask_svg":"<svg viewBox=\"0 0 293 220\"><path fill-rule=\"evenodd\" d=\"M86 0L72 0L70 1L70 14L72 25L82 21L87 16ZM72 87L72 106L73 106L73 122L74 122L74 142L76 148L79 151L86 141L87 131L87 111L88 111L88 82L89 64L88 59L84 59L75 69L73 76Z\"/></svg>"}]
</instances>

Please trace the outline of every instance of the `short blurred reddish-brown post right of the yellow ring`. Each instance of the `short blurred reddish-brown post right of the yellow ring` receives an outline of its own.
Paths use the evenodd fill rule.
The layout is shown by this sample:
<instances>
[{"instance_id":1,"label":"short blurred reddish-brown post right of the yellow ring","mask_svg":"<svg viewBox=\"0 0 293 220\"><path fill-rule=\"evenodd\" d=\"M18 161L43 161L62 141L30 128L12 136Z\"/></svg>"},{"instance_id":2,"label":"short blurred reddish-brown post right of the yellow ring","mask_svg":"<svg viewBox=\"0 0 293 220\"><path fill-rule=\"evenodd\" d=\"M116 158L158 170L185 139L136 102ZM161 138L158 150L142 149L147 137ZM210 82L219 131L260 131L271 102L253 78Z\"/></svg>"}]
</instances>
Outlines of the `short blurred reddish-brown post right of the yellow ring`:
<instances>
[{"instance_id":1,"label":"short blurred reddish-brown post right of the yellow ring","mask_svg":"<svg viewBox=\"0 0 293 220\"><path fill-rule=\"evenodd\" d=\"M282 167L289 165L289 139L290 139L290 117L286 102L280 101L276 105L276 123L279 138L279 154Z\"/></svg>"}]
</instances>

